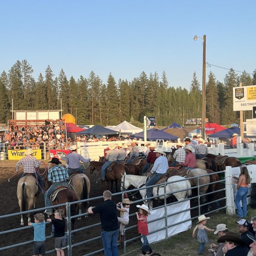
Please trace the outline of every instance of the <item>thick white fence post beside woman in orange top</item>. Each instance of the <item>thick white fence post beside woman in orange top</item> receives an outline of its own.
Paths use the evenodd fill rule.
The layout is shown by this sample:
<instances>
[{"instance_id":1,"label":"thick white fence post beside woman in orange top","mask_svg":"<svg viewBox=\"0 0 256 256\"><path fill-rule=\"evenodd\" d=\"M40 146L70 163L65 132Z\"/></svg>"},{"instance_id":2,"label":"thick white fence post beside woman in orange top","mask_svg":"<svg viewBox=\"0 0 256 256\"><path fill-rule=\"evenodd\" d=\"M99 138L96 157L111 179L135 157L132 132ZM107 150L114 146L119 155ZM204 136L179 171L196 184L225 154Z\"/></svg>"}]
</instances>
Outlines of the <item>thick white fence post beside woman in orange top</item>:
<instances>
[{"instance_id":1,"label":"thick white fence post beside woman in orange top","mask_svg":"<svg viewBox=\"0 0 256 256\"><path fill-rule=\"evenodd\" d=\"M226 166L225 171L225 183L226 183L226 202L227 202L227 215L236 214L234 192L232 184L232 167Z\"/></svg>"}]
</instances>

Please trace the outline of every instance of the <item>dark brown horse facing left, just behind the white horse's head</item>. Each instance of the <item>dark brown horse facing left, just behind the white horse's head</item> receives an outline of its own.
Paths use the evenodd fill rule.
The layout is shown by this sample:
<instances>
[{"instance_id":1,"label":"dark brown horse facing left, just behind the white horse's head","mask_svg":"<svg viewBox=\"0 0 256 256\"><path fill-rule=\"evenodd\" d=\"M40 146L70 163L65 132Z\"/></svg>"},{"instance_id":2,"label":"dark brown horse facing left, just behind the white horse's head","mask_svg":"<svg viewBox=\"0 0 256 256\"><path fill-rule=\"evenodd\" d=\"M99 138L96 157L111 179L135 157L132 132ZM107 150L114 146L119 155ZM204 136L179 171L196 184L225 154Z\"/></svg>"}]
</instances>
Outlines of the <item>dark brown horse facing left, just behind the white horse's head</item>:
<instances>
[{"instance_id":1,"label":"dark brown horse facing left, just behind the white horse's head","mask_svg":"<svg viewBox=\"0 0 256 256\"><path fill-rule=\"evenodd\" d=\"M93 174L93 172L95 170L98 171L99 177L101 176L101 168L102 168L103 163L97 162L97 161L91 161L90 162L90 173ZM108 169L108 168L107 168ZM106 175L106 181L108 183L107 188L109 189L109 182L111 181L111 191L113 190L113 181L115 181L115 185L116 185L116 192L117 192L117 180L119 180L121 182L121 174L124 175L126 174L126 172L128 172L128 167L120 164L120 163L116 163L112 166L111 171L109 171ZM103 191L106 190L105 187L105 180L102 180L102 186L103 186Z\"/></svg>"}]
</instances>

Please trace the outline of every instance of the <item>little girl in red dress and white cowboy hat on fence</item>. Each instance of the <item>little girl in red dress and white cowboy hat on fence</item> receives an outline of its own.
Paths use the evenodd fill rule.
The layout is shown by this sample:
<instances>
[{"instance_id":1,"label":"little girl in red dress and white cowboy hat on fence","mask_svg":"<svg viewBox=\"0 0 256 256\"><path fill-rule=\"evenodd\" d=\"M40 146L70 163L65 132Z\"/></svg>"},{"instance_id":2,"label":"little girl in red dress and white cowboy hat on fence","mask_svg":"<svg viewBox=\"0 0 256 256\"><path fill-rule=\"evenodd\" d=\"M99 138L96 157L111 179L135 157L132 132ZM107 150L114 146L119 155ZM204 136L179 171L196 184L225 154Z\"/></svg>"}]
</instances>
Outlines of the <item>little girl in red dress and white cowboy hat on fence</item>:
<instances>
[{"instance_id":1,"label":"little girl in red dress and white cowboy hat on fence","mask_svg":"<svg viewBox=\"0 0 256 256\"><path fill-rule=\"evenodd\" d=\"M138 232L139 234L142 234L143 237L143 245L147 245L148 239L148 219L147 216L150 215L150 212L148 210L148 207L145 204L142 205L136 205L136 207L140 208L140 213L136 212L137 220L138 220Z\"/></svg>"}]
</instances>

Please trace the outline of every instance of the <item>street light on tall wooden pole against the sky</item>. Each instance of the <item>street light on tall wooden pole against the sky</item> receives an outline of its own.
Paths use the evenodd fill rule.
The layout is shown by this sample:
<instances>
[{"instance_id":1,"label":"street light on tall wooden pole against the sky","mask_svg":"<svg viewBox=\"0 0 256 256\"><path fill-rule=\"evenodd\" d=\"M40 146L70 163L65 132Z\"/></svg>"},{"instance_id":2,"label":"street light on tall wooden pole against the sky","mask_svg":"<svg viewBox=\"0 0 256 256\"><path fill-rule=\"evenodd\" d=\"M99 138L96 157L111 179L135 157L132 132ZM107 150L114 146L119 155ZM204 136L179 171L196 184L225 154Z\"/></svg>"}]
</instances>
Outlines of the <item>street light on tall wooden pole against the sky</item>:
<instances>
[{"instance_id":1,"label":"street light on tall wooden pole against the sky","mask_svg":"<svg viewBox=\"0 0 256 256\"><path fill-rule=\"evenodd\" d=\"M194 41L197 41L198 38L201 38L197 35L194 36ZM205 81L206 81L206 35L201 38L203 40L203 79L202 79L202 137L205 140L205 109L206 109L206 104L205 104L205 98L206 98L206 93L205 93Z\"/></svg>"}]
</instances>

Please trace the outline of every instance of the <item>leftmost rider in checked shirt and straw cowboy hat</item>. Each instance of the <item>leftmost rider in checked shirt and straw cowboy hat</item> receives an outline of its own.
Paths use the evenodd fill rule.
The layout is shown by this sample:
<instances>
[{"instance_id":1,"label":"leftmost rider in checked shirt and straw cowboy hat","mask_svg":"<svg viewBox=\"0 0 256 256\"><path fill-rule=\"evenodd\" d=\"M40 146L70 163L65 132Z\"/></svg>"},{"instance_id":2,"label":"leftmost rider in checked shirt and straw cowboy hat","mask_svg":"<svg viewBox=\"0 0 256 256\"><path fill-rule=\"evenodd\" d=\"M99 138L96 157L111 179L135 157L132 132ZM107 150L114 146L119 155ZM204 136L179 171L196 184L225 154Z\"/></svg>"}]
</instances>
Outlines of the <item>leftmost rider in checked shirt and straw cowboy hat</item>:
<instances>
[{"instance_id":1,"label":"leftmost rider in checked shirt and straw cowboy hat","mask_svg":"<svg viewBox=\"0 0 256 256\"><path fill-rule=\"evenodd\" d=\"M42 161L36 160L35 157L32 156L33 151L32 148L29 148L28 150L25 151L26 157L21 158L17 164L16 164L16 172L19 171L20 165L23 166L23 174L20 177L24 177L26 173L32 173L35 178L38 180L39 187L38 187L38 193L39 195L43 194L42 192L42 187L43 187L43 178L40 176L38 172L36 172L36 168L39 168L40 163ZM42 162L44 163L44 162ZM44 163L45 166L47 167L47 164Z\"/></svg>"}]
</instances>

